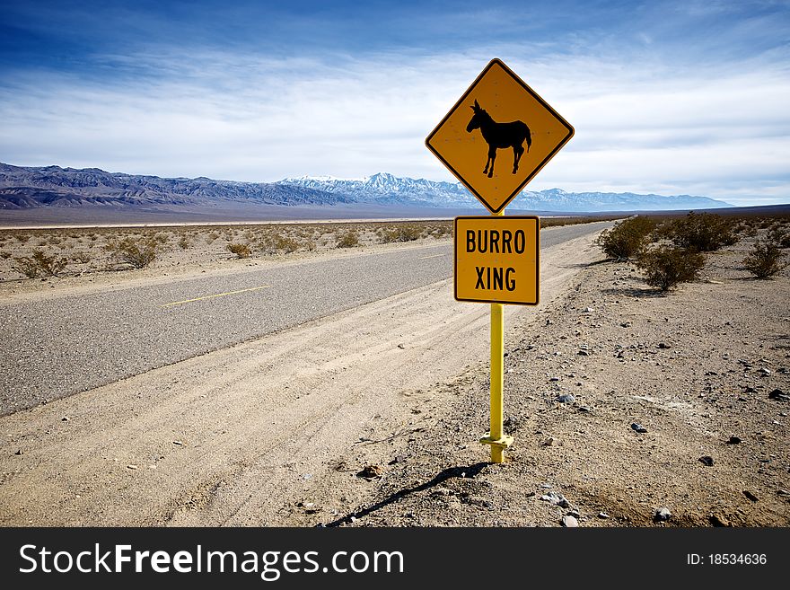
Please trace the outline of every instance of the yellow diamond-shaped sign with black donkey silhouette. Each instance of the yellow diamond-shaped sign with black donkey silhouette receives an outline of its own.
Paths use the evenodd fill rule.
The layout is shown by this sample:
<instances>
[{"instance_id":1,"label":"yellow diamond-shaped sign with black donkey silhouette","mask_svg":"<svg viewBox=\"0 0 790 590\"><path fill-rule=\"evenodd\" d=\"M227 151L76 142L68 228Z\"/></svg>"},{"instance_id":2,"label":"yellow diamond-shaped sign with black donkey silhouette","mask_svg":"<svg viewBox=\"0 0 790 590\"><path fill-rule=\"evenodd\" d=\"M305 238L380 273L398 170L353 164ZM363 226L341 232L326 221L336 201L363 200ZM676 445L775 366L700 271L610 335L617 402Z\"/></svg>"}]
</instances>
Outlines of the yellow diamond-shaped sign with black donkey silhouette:
<instances>
[{"instance_id":1,"label":"yellow diamond-shaped sign with black donkey silhouette","mask_svg":"<svg viewBox=\"0 0 790 590\"><path fill-rule=\"evenodd\" d=\"M426 145L491 213L499 213L573 135L556 110L492 59Z\"/></svg>"}]
</instances>

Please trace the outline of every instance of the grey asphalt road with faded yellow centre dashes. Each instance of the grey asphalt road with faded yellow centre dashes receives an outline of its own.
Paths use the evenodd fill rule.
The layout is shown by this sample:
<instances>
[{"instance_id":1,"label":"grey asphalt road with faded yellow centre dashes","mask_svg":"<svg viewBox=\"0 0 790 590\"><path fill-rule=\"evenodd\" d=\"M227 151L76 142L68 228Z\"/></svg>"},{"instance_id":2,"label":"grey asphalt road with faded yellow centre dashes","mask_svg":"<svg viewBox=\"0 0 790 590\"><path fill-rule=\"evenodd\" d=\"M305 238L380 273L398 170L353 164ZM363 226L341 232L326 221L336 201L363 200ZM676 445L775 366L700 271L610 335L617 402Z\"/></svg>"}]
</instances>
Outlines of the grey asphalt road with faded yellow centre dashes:
<instances>
[{"instance_id":1,"label":"grey asphalt road with faded yellow centre dashes","mask_svg":"<svg viewBox=\"0 0 790 590\"><path fill-rule=\"evenodd\" d=\"M604 223L544 231L541 250ZM0 415L452 277L452 246L0 306Z\"/></svg>"}]
</instances>

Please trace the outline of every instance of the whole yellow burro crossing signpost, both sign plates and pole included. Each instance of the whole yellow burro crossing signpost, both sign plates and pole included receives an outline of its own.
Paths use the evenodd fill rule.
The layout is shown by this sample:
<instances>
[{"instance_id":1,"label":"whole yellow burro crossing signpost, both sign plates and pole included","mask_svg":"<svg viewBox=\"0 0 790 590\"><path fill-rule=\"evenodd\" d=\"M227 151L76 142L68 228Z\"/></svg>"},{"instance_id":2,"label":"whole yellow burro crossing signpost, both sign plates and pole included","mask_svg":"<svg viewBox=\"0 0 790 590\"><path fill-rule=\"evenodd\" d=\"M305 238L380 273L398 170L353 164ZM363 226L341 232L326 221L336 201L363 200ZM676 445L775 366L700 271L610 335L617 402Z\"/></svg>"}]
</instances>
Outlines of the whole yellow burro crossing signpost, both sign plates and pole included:
<instances>
[{"instance_id":1,"label":"whole yellow burro crossing signpost, both sign plates and pole included","mask_svg":"<svg viewBox=\"0 0 790 590\"><path fill-rule=\"evenodd\" d=\"M492 59L426 138L427 148L491 216L455 219L455 298L491 304L491 462L513 444L503 427L504 304L537 305L540 220L505 207L566 145L574 128ZM497 159L497 155L499 156Z\"/></svg>"}]
</instances>

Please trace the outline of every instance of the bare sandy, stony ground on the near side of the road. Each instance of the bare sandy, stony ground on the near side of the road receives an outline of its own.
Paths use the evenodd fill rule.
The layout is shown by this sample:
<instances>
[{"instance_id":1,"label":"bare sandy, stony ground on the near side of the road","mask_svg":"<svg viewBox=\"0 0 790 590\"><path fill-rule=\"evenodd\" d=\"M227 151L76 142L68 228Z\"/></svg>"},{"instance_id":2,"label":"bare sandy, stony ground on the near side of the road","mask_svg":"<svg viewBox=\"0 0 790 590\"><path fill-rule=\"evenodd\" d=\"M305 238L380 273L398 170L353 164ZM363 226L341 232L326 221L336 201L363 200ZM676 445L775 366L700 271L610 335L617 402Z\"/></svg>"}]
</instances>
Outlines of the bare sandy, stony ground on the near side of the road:
<instances>
[{"instance_id":1,"label":"bare sandy, stony ground on the near side of the road","mask_svg":"<svg viewBox=\"0 0 790 590\"><path fill-rule=\"evenodd\" d=\"M749 247L665 296L549 249L506 310L503 464L487 305L442 281L0 418L0 523L786 526L790 272Z\"/></svg>"}]
</instances>

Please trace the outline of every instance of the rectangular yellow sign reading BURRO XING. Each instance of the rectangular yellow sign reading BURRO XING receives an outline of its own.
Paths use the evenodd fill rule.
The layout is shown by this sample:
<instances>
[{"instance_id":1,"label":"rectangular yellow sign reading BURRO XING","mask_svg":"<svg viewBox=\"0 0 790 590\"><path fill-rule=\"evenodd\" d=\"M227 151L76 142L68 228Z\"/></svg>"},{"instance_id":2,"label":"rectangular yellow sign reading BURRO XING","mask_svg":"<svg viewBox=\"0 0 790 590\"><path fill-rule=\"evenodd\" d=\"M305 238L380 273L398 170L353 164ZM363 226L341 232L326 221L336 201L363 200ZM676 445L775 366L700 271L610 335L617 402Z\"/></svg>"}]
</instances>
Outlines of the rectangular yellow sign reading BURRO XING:
<instances>
[{"instance_id":1,"label":"rectangular yellow sign reading BURRO XING","mask_svg":"<svg viewBox=\"0 0 790 590\"><path fill-rule=\"evenodd\" d=\"M540 219L455 218L455 298L492 304L538 304Z\"/></svg>"}]
</instances>

